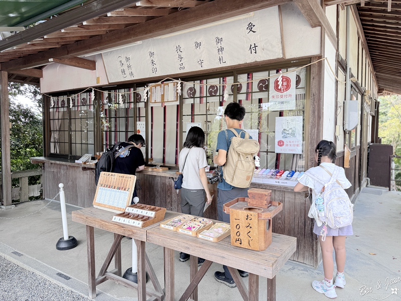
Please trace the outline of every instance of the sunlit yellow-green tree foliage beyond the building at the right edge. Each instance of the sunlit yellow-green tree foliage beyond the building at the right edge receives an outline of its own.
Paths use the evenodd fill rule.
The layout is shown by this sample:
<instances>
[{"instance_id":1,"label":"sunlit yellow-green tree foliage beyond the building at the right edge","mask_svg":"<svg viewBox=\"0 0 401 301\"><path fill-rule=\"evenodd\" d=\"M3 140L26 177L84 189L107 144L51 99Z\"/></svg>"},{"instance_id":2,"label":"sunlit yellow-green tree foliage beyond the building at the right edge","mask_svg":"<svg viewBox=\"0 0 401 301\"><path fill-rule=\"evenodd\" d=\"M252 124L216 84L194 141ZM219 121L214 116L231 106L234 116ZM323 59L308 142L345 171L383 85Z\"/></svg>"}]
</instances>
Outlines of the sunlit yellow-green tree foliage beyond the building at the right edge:
<instances>
[{"instance_id":1,"label":"sunlit yellow-green tree foliage beyond the building at the right edge","mask_svg":"<svg viewBox=\"0 0 401 301\"><path fill-rule=\"evenodd\" d=\"M393 153L401 156L401 95L388 95L379 98L379 136L381 143L391 144ZM400 158L395 158L395 168L401 168ZM401 172L395 171L395 179L401 180ZM396 185L401 187L401 182Z\"/></svg>"}]
</instances>

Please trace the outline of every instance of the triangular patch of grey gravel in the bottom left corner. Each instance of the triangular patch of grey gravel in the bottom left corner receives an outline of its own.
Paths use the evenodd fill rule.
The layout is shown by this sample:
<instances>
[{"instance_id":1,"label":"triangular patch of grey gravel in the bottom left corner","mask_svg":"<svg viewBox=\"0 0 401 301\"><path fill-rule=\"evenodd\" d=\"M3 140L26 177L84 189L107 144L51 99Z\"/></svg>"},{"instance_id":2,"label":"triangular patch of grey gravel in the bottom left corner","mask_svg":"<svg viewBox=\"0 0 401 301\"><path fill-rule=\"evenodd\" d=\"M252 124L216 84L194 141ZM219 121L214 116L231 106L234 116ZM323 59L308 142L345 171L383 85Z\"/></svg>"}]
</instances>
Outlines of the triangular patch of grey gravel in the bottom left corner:
<instances>
[{"instance_id":1,"label":"triangular patch of grey gravel in the bottom left corner","mask_svg":"<svg viewBox=\"0 0 401 301\"><path fill-rule=\"evenodd\" d=\"M0 256L0 301L90 301Z\"/></svg>"}]
</instances>

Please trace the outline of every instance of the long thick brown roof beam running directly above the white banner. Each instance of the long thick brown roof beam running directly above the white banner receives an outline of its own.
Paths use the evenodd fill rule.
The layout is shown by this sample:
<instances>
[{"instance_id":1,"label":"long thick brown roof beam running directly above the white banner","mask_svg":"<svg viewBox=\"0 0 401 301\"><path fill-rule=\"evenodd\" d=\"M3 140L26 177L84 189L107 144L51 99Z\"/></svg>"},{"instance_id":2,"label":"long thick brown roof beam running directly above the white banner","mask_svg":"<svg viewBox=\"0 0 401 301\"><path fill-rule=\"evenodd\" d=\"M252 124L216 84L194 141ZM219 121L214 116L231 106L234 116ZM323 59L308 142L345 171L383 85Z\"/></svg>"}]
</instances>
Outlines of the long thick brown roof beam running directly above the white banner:
<instances>
[{"instance_id":1,"label":"long thick brown roof beam running directly above the white banner","mask_svg":"<svg viewBox=\"0 0 401 301\"><path fill-rule=\"evenodd\" d=\"M21 69L46 64L49 58L80 56L93 51L107 50L146 39L171 34L196 26L252 13L285 4L290 0L215 0L177 14L160 17L145 23L126 27L117 32L96 36L74 44L50 49L2 64L4 70ZM62 39L62 38L60 38Z\"/></svg>"}]
</instances>

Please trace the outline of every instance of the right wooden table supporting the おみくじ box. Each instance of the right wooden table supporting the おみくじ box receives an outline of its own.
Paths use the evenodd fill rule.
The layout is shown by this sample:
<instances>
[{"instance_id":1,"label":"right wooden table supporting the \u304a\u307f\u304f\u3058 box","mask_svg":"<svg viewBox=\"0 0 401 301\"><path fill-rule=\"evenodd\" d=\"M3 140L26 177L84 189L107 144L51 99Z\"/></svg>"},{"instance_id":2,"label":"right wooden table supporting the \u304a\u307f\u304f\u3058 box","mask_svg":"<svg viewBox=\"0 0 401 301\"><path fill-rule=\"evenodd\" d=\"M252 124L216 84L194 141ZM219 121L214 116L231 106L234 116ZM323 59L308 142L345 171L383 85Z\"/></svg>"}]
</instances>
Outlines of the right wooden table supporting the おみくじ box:
<instances>
[{"instance_id":1,"label":"right wooden table supporting the \u304a\u307f\u304f\u3058 box","mask_svg":"<svg viewBox=\"0 0 401 301\"><path fill-rule=\"evenodd\" d=\"M216 222L216 221L215 221ZM274 222L274 221L273 221ZM174 300L174 250L190 254L190 284L180 297L197 301L197 285L212 262L225 264L237 284L244 300L259 299L259 276L267 277L267 300L276 299L276 274L295 252L295 237L273 233L272 243L264 251L254 251L231 245L230 236L220 242L211 242L182 233L152 227L147 231L147 242L164 247L164 273L166 301ZM205 263L197 270L197 257ZM249 272L249 289L246 289L237 269Z\"/></svg>"}]
</instances>

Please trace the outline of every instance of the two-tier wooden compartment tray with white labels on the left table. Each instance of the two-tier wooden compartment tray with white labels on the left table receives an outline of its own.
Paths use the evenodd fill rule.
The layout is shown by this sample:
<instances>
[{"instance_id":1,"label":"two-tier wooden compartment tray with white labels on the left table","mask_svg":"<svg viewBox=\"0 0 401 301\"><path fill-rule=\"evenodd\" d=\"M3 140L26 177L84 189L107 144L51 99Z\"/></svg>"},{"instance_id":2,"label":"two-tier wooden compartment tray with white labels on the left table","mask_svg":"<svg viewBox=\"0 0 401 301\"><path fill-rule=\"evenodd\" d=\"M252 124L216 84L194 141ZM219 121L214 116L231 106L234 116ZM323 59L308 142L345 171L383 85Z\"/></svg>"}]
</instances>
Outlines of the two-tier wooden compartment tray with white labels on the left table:
<instances>
[{"instance_id":1,"label":"two-tier wooden compartment tray with white labels on the left table","mask_svg":"<svg viewBox=\"0 0 401 301\"><path fill-rule=\"evenodd\" d=\"M112 221L134 227L144 228L162 221L166 209L156 206L135 204L125 208L125 212L113 216Z\"/></svg>"}]
</instances>

